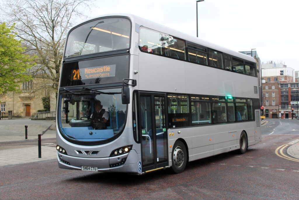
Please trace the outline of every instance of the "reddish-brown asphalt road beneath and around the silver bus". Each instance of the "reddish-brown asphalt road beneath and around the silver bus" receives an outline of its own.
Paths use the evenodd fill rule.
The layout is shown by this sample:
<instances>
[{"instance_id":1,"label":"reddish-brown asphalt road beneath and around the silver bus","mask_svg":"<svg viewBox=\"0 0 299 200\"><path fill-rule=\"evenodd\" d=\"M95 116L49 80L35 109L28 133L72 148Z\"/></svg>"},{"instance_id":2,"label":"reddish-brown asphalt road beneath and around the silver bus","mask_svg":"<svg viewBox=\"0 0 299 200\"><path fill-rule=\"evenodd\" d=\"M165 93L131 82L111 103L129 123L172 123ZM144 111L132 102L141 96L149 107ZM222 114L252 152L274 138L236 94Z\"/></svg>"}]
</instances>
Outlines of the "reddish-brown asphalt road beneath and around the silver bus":
<instances>
[{"instance_id":1,"label":"reddish-brown asphalt road beneath and around the silver bus","mask_svg":"<svg viewBox=\"0 0 299 200\"><path fill-rule=\"evenodd\" d=\"M245 154L197 160L176 175L73 171L59 169L56 160L0 167L0 199L298 199L298 162L275 154L299 139L288 132L296 124L269 120L262 142Z\"/></svg>"}]
</instances>

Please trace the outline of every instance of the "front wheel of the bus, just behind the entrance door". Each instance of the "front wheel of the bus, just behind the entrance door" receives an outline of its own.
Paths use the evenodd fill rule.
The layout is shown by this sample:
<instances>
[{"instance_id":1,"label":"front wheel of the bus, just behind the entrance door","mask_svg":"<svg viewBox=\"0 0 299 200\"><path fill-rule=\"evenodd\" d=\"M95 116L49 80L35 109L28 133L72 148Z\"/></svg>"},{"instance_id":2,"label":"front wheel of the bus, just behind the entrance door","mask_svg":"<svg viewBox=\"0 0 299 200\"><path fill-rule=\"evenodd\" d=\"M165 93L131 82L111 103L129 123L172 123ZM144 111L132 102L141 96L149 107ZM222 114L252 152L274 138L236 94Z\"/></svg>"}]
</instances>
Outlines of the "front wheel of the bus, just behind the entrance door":
<instances>
[{"instance_id":1,"label":"front wheel of the bus, just behind the entrance door","mask_svg":"<svg viewBox=\"0 0 299 200\"><path fill-rule=\"evenodd\" d=\"M171 171L175 174L183 172L187 164L187 157L187 150L184 143L177 140L173 145L171 154Z\"/></svg>"}]
</instances>

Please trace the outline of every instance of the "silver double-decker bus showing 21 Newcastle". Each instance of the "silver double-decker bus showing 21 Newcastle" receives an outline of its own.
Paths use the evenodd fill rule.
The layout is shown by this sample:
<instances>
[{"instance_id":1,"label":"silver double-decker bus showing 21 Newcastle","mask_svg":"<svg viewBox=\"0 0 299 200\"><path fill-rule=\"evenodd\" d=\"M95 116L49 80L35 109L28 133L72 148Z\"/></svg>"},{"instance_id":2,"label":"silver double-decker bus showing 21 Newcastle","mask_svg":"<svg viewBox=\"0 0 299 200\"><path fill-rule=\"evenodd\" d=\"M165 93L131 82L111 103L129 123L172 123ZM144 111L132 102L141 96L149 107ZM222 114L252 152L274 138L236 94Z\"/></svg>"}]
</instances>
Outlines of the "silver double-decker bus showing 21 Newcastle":
<instances>
[{"instance_id":1,"label":"silver double-decker bus showing 21 Newcastle","mask_svg":"<svg viewBox=\"0 0 299 200\"><path fill-rule=\"evenodd\" d=\"M254 58L131 14L69 31L58 166L145 174L261 141Z\"/></svg>"}]
</instances>

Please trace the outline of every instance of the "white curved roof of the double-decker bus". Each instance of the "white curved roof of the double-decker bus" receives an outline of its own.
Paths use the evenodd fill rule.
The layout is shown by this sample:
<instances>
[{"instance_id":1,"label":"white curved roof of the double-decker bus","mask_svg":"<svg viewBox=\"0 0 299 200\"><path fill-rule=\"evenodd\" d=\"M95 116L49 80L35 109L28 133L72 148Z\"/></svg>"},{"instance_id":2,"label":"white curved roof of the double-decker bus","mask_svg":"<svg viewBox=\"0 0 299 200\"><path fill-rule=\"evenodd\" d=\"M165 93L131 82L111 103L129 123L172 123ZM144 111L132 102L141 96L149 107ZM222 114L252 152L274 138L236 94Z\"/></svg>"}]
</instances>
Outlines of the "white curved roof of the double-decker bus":
<instances>
[{"instance_id":1,"label":"white curved roof of the double-decker bus","mask_svg":"<svg viewBox=\"0 0 299 200\"><path fill-rule=\"evenodd\" d=\"M93 20L93 19L97 19L97 18L101 18L101 17L108 17L108 16L125 16L125 17L129 17L132 20L133 30L135 29L134 28L135 27L135 23L137 23L140 26L151 28L153 30L156 30L156 31L159 31L159 32L163 32L165 34L169 34L171 36L178 37L178 38L181 38L183 40L187 40L187 41L190 41L190 42L193 42L193 43L196 43L196 44L200 44L202 46L206 46L206 47L208 47L210 49L215 49L215 50L227 53L229 55L233 55L233 56L236 56L236 57L239 57L239 58L242 58L242 59L246 59L248 61L255 62L255 59L253 57L251 57L251 56L245 55L245 54L240 53L240 52L233 51L231 49L227 49L227 48L225 48L223 46L219 46L217 44L208 42L206 40L202 40L202 39L200 39L198 37L191 36L189 34L181 32L181 31L177 31L177 30L175 30L173 28L169 28L167 26L158 24L156 22L152 22L152 21L150 21L148 19L144 19L142 17L136 16L136 15L133 15L133 14L128 14L128 13L111 13L111 14L105 14L105 15L95 16L95 17L92 17L90 19L87 19L87 20L85 20L83 22L80 22L80 23L74 25L72 28L74 28L74 27L76 27L76 26L78 26L78 25L80 25L80 24L82 24L84 22L87 22L87 21L90 21L90 20Z\"/></svg>"}]
</instances>

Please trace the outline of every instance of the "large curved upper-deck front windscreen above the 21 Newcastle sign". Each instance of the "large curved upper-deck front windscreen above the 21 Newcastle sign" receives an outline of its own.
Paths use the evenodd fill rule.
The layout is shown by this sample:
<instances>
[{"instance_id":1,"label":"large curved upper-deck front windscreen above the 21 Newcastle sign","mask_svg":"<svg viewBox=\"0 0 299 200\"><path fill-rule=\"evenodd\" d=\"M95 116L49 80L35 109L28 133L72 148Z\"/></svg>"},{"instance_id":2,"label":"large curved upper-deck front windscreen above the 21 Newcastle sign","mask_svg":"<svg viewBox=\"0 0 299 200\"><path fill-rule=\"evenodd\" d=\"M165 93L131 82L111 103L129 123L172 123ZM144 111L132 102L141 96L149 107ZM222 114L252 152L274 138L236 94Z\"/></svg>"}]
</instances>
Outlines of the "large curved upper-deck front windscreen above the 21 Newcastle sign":
<instances>
[{"instance_id":1,"label":"large curved upper-deck front windscreen above the 21 Newcastle sign","mask_svg":"<svg viewBox=\"0 0 299 200\"><path fill-rule=\"evenodd\" d=\"M131 22L125 18L98 19L80 25L68 35L65 58L129 49Z\"/></svg>"}]
</instances>

